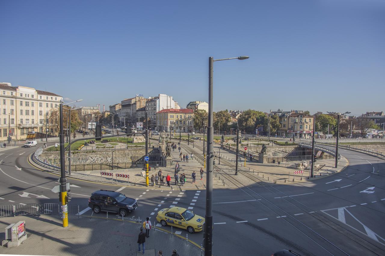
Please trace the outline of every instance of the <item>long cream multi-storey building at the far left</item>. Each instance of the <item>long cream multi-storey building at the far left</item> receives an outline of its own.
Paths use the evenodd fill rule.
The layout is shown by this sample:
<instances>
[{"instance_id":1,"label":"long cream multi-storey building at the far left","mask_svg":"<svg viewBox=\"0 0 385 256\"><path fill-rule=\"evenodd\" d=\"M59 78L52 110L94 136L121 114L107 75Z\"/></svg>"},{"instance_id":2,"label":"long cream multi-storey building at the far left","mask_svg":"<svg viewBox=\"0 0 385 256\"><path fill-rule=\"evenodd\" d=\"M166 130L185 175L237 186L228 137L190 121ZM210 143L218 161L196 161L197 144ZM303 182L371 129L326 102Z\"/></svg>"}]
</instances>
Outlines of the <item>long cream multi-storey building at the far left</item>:
<instances>
[{"instance_id":1,"label":"long cream multi-storey building at the far left","mask_svg":"<svg viewBox=\"0 0 385 256\"><path fill-rule=\"evenodd\" d=\"M28 132L45 133L45 118L63 97L49 91L0 83L0 140L24 140ZM55 133L55 131L49 131Z\"/></svg>"}]
</instances>

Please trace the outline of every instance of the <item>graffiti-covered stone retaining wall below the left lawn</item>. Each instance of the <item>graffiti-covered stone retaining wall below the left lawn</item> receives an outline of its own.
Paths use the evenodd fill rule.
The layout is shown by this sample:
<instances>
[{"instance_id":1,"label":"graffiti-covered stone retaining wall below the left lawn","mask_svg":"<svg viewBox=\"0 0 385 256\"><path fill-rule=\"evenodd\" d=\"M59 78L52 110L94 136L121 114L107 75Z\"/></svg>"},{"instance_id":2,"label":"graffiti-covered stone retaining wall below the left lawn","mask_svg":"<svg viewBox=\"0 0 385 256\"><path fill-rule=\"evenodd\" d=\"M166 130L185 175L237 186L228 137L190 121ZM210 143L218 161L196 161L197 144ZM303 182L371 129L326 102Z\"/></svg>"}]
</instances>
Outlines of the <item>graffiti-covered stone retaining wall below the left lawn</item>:
<instances>
[{"instance_id":1,"label":"graffiti-covered stone retaining wall below the left lawn","mask_svg":"<svg viewBox=\"0 0 385 256\"><path fill-rule=\"evenodd\" d=\"M88 165L100 163L132 163L144 161L146 150L143 148L128 150L95 150L95 151L73 151L71 152L71 165ZM68 165L68 153L65 154L65 164ZM161 156L158 148L149 148L150 161L160 161ZM60 152L46 151L40 155L40 161L47 161L54 165L60 165Z\"/></svg>"}]
</instances>

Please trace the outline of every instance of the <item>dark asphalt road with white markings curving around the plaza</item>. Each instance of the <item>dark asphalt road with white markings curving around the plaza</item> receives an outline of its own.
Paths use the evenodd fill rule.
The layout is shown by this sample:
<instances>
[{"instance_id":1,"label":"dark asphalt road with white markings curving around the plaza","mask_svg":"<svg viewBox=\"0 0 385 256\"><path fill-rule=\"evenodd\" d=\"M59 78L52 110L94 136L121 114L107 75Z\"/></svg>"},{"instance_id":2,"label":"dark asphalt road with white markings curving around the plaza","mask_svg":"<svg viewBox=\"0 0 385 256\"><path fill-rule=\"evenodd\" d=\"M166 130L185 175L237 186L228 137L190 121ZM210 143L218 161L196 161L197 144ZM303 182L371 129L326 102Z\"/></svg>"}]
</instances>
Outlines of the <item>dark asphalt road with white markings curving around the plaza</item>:
<instances>
[{"instance_id":1,"label":"dark asphalt road with white markings curving around the plaza","mask_svg":"<svg viewBox=\"0 0 385 256\"><path fill-rule=\"evenodd\" d=\"M58 203L58 194L51 189L59 184L59 176L36 170L28 163L28 156L35 150L15 148L0 152L0 205ZM214 190L213 254L271 255L280 249L292 249L301 255L383 255L385 163L354 151L341 149L340 153L349 165L335 175L290 185ZM88 198L98 189L119 190L138 198L137 210L129 215L132 220L149 216L154 221L157 210L170 205L192 207L201 216L205 213L204 190L67 181L72 185L70 203L79 204L85 216L91 215ZM109 218L117 216L110 214ZM186 235L182 229L173 231ZM202 236L195 233L188 238L201 244Z\"/></svg>"}]
</instances>

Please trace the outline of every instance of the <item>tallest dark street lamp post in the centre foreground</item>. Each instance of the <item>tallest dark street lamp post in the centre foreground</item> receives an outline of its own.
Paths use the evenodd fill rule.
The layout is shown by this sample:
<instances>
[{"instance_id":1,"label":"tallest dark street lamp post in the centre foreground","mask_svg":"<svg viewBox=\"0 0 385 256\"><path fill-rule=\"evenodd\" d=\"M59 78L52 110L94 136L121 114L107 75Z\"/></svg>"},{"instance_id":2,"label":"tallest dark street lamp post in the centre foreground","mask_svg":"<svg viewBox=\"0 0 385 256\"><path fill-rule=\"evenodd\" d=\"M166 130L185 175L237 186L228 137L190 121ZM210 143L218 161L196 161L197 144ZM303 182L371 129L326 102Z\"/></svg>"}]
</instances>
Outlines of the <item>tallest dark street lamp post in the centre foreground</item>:
<instances>
[{"instance_id":1,"label":"tallest dark street lamp post in the centre foreground","mask_svg":"<svg viewBox=\"0 0 385 256\"><path fill-rule=\"evenodd\" d=\"M206 224L204 226L204 255L212 255L213 246L213 153L214 153L214 128L213 128L213 66L214 61L220 60L245 60L248 56L214 60L209 57L209 123L207 128L207 168L206 168ZM204 139L204 138L203 138Z\"/></svg>"}]
</instances>

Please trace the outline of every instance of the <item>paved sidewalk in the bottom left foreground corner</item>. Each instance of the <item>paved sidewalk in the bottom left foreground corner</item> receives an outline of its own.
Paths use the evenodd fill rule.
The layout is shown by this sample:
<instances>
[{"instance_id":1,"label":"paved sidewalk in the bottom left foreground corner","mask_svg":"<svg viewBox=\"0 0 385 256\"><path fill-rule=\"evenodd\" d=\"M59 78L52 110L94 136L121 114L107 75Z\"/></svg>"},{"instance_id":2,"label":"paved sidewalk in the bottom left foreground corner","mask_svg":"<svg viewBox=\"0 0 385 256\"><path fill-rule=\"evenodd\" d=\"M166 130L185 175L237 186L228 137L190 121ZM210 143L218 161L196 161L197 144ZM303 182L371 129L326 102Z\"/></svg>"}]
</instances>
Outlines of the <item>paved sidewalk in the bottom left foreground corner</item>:
<instances>
[{"instance_id":1,"label":"paved sidewalk in the bottom left foreground corner","mask_svg":"<svg viewBox=\"0 0 385 256\"><path fill-rule=\"evenodd\" d=\"M2 231L12 223L25 221L27 240L14 248L0 247L0 254L27 255L143 255L137 252L139 225L133 221L105 218L69 216L69 226L62 227L57 215L16 216L0 219ZM142 226L142 225L141 225ZM0 233L0 240L5 233ZM142 249L142 247L141 247ZM145 255L171 255L176 249L180 256L201 255L200 246L186 241L186 238L152 228L146 238Z\"/></svg>"}]
</instances>

